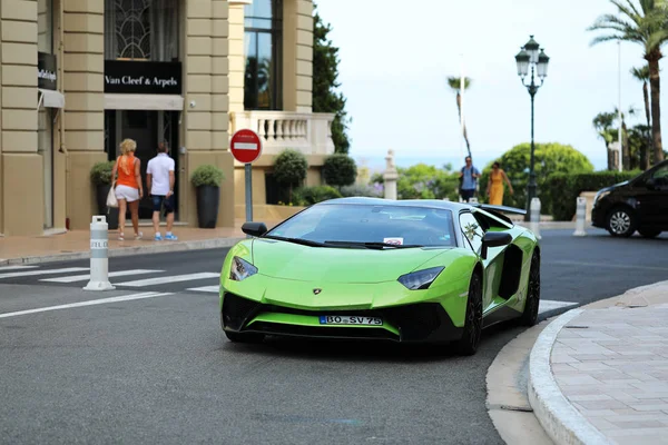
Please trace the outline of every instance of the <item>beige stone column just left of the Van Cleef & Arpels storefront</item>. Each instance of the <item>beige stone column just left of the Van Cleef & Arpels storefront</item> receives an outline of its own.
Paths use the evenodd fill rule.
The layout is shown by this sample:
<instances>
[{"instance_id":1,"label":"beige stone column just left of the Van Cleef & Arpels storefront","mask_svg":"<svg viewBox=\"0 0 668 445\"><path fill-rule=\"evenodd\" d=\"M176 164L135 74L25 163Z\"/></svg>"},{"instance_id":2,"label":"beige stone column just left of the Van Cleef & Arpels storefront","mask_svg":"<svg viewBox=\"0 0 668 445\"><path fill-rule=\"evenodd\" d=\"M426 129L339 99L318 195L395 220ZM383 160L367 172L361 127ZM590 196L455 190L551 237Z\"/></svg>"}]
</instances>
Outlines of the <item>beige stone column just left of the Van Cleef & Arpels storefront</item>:
<instances>
[{"instance_id":1,"label":"beige stone column just left of the Van Cleef & Arpels storefront","mask_svg":"<svg viewBox=\"0 0 668 445\"><path fill-rule=\"evenodd\" d=\"M86 230L97 212L90 169L105 152L105 3L62 0L65 14L65 146L68 150L67 217Z\"/></svg>"}]
</instances>

